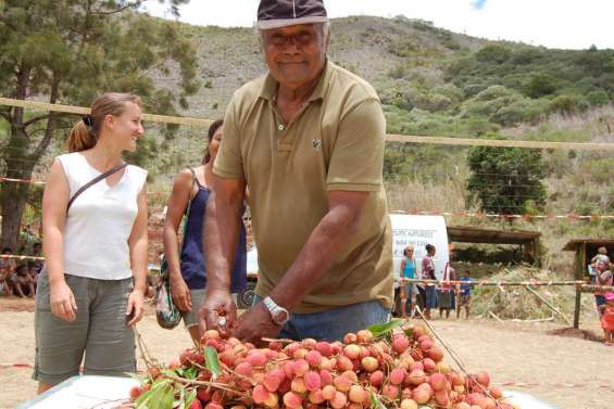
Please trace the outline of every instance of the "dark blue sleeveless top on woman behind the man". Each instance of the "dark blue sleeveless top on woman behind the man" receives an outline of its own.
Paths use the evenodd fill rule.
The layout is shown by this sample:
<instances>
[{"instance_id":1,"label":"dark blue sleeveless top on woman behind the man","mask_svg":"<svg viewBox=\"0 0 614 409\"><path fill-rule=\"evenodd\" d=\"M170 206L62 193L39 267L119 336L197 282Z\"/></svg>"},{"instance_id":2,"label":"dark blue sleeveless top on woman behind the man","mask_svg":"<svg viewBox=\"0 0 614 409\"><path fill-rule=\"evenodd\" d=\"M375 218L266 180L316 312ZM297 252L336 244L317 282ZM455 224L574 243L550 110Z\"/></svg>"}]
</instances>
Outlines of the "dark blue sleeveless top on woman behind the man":
<instances>
[{"instance_id":1,"label":"dark blue sleeveless top on woman behind the man","mask_svg":"<svg viewBox=\"0 0 614 409\"><path fill-rule=\"evenodd\" d=\"M193 171L193 170L192 170ZM211 191L200 184L196 178L198 193L192 199L188 218L186 220L186 231L181 245L181 277L186 281L188 289L202 290L206 286L205 255L202 252L202 231L206 203ZM245 208L243 208L245 210ZM242 214L242 212L241 212ZM240 293L247 285L247 251L246 251L246 227L239 216L239 242L235 252L235 264L230 276L230 292Z\"/></svg>"}]
</instances>

